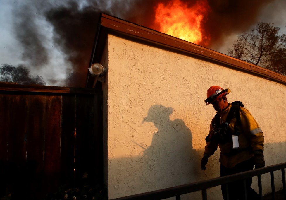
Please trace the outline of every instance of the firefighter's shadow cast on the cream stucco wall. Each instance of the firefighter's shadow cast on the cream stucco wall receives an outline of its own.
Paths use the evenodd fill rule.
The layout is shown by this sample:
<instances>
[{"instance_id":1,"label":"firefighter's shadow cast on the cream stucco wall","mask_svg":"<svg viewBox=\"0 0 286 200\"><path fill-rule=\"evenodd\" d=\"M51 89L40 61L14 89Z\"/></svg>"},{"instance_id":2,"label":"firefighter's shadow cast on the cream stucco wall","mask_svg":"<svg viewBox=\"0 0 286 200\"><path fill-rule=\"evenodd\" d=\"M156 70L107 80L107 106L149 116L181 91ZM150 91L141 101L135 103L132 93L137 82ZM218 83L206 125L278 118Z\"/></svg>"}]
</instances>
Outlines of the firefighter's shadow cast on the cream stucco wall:
<instances>
[{"instance_id":1,"label":"firefighter's shadow cast on the cream stucco wall","mask_svg":"<svg viewBox=\"0 0 286 200\"><path fill-rule=\"evenodd\" d=\"M182 119L170 120L173 108L153 105L143 122L153 122L158 129L143 155L147 158L148 182L161 188L197 180L198 157L192 147L192 133ZM154 187L156 188L156 187Z\"/></svg>"}]
</instances>

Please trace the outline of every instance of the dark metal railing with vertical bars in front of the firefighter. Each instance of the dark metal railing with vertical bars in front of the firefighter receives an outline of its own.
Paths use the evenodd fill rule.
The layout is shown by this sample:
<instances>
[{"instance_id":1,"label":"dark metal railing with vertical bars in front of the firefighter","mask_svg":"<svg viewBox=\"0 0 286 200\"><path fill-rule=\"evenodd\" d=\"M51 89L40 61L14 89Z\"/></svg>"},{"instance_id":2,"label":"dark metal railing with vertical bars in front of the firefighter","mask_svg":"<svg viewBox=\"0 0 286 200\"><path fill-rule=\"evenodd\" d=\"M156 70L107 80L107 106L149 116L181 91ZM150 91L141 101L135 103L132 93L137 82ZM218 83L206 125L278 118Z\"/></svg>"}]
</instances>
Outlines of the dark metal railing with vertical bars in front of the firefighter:
<instances>
[{"instance_id":1,"label":"dark metal railing with vertical bars in front of the firefighter","mask_svg":"<svg viewBox=\"0 0 286 200\"><path fill-rule=\"evenodd\" d=\"M247 178L254 177L254 176L257 176L259 196L260 196L260 199L262 199L261 175L266 174L266 173L270 173L272 199L275 200L274 171L277 171L277 170L281 170L283 194L284 194L284 199L285 199L286 198L285 170L284 170L285 168L286 168L286 163L280 163L277 165L271 165L271 166L263 167L263 168L256 169L256 170L240 172L237 174L228 175L224 177L213 178L213 179L204 180L200 182L189 183L189 184L184 184L184 185L175 186L175 187L169 187L166 189L160 189L160 190L145 192L141 194L135 194L131 196L120 197L120 198L111 199L111 200L146 200L146 199L159 200L159 199L166 199L170 197L176 197L176 200L180 200L181 195L191 193L191 192L197 192L197 191L202 191L202 199L206 200L207 199L206 189L211 188L211 187L216 187L222 184L228 185L229 183L233 181L246 180ZM244 181L244 184L245 184L245 181ZM244 189L244 194L245 194L245 199L247 199L246 189Z\"/></svg>"}]
</instances>

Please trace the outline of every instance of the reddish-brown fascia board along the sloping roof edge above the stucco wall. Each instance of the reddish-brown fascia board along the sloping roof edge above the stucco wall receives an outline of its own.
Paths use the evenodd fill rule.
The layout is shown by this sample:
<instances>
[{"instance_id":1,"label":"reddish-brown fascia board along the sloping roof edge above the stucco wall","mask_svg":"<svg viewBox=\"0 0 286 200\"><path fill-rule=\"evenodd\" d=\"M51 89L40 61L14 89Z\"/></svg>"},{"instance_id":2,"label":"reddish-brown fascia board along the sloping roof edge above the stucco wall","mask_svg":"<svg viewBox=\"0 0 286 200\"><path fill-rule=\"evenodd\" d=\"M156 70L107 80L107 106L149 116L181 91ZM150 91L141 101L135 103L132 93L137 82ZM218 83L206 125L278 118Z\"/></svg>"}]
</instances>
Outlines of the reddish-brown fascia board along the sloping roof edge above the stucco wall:
<instances>
[{"instance_id":1,"label":"reddish-brown fascia board along the sloping roof edge above the stucco wall","mask_svg":"<svg viewBox=\"0 0 286 200\"><path fill-rule=\"evenodd\" d=\"M108 32L111 31L128 35L130 37L136 37L141 40L147 40L157 45L159 44L183 52L188 52L200 57L232 66L238 70L243 70L252 74L254 73L259 76L263 76L264 78L286 84L286 76L283 76L279 73L104 13L101 13L100 26L107 30L105 31L105 34L108 34ZM97 37L97 40L100 40L100 38Z\"/></svg>"}]
</instances>

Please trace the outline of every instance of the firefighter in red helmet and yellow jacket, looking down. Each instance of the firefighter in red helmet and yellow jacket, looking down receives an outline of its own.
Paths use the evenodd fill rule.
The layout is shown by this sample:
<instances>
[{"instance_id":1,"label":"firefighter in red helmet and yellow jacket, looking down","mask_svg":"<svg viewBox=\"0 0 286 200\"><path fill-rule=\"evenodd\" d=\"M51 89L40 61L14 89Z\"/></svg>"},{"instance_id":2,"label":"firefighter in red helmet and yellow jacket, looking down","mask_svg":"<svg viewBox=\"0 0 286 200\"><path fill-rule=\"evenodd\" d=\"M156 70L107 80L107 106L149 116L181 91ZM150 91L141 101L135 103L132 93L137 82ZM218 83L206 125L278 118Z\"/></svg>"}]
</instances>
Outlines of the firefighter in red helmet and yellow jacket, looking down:
<instances>
[{"instance_id":1,"label":"firefighter in red helmet and yellow jacket, looking down","mask_svg":"<svg viewBox=\"0 0 286 200\"><path fill-rule=\"evenodd\" d=\"M264 136L259 124L239 101L228 103L230 89L211 86L207 91L206 105L212 104L217 114L211 121L206 137L201 169L206 170L208 158L220 148L220 177L264 167ZM246 180L247 198L259 199L251 188L252 177ZM223 199L227 199L226 185L221 185ZM229 199L244 199L244 181L228 185Z\"/></svg>"}]
</instances>

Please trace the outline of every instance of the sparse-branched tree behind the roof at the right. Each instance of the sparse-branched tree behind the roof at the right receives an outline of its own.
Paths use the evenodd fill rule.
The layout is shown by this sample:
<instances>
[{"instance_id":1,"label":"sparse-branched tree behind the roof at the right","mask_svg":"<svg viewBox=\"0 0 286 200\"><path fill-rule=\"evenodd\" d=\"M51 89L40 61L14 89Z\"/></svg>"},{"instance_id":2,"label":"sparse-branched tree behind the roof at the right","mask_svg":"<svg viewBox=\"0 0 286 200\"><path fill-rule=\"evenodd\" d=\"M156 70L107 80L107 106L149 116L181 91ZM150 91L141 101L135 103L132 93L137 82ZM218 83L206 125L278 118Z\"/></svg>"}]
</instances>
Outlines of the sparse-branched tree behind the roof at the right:
<instances>
[{"instance_id":1,"label":"sparse-branched tree behind the roof at the right","mask_svg":"<svg viewBox=\"0 0 286 200\"><path fill-rule=\"evenodd\" d=\"M279 30L259 22L249 33L238 35L228 55L286 75L286 36L279 35Z\"/></svg>"}]
</instances>

